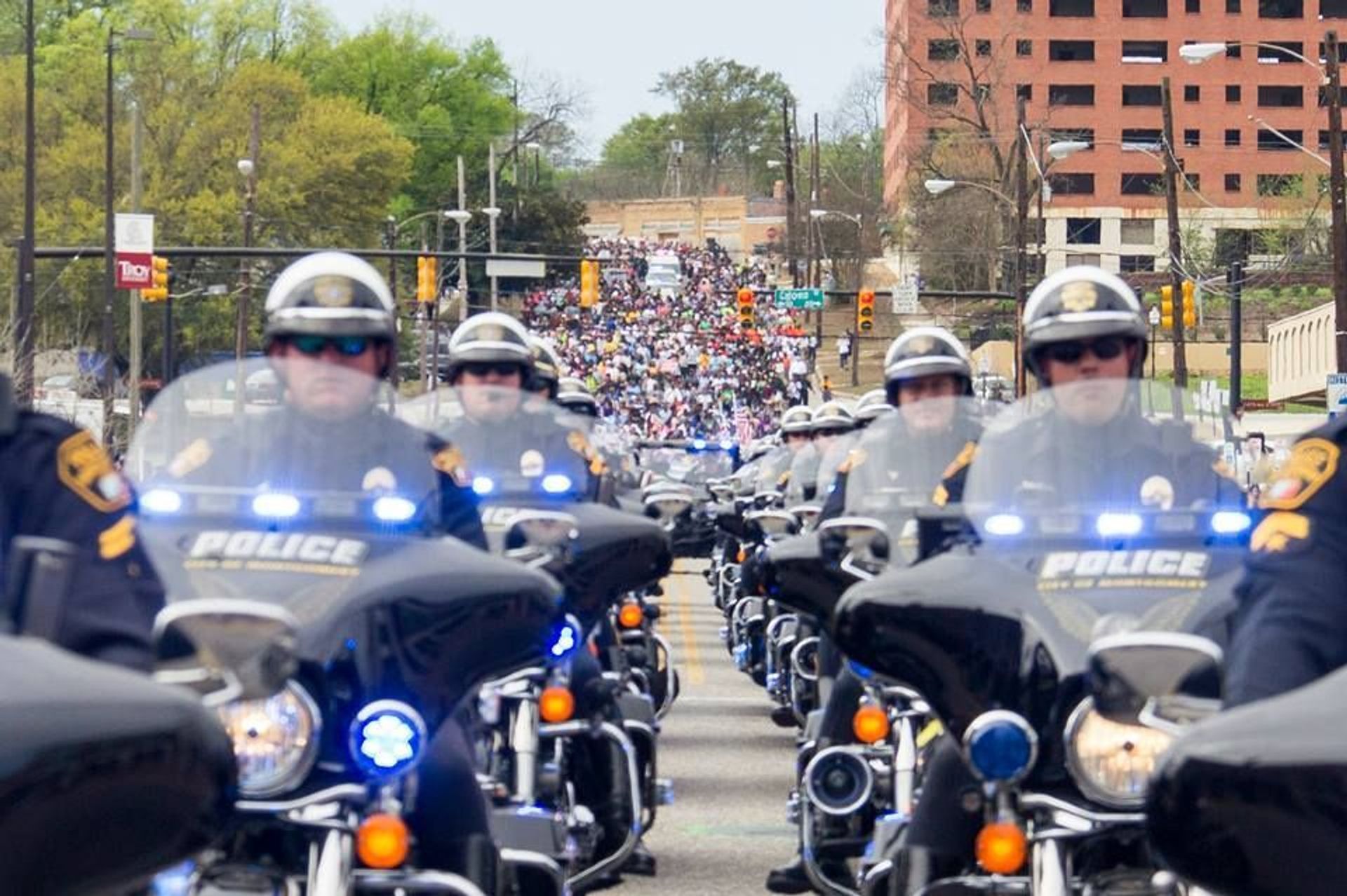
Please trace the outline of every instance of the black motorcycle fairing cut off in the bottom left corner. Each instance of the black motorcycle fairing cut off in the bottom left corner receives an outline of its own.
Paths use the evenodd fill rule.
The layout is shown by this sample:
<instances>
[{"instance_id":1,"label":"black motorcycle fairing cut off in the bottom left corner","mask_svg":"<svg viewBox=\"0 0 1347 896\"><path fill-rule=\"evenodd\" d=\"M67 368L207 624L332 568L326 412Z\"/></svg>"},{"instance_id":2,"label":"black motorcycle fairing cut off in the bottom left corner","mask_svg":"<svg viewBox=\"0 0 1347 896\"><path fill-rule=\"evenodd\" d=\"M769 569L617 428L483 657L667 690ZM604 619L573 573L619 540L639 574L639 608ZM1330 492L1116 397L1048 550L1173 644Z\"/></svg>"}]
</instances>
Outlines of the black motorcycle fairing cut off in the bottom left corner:
<instances>
[{"instance_id":1,"label":"black motorcycle fairing cut off in the bottom left corner","mask_svg":"<svg viewBox=\"0 0 1347 896\"><path fill-rule=\"evenodd\" d=\"M234 756L189 692L0 638L0 891L127 892L209 845Z\"/></svg>"}]
</instances>

